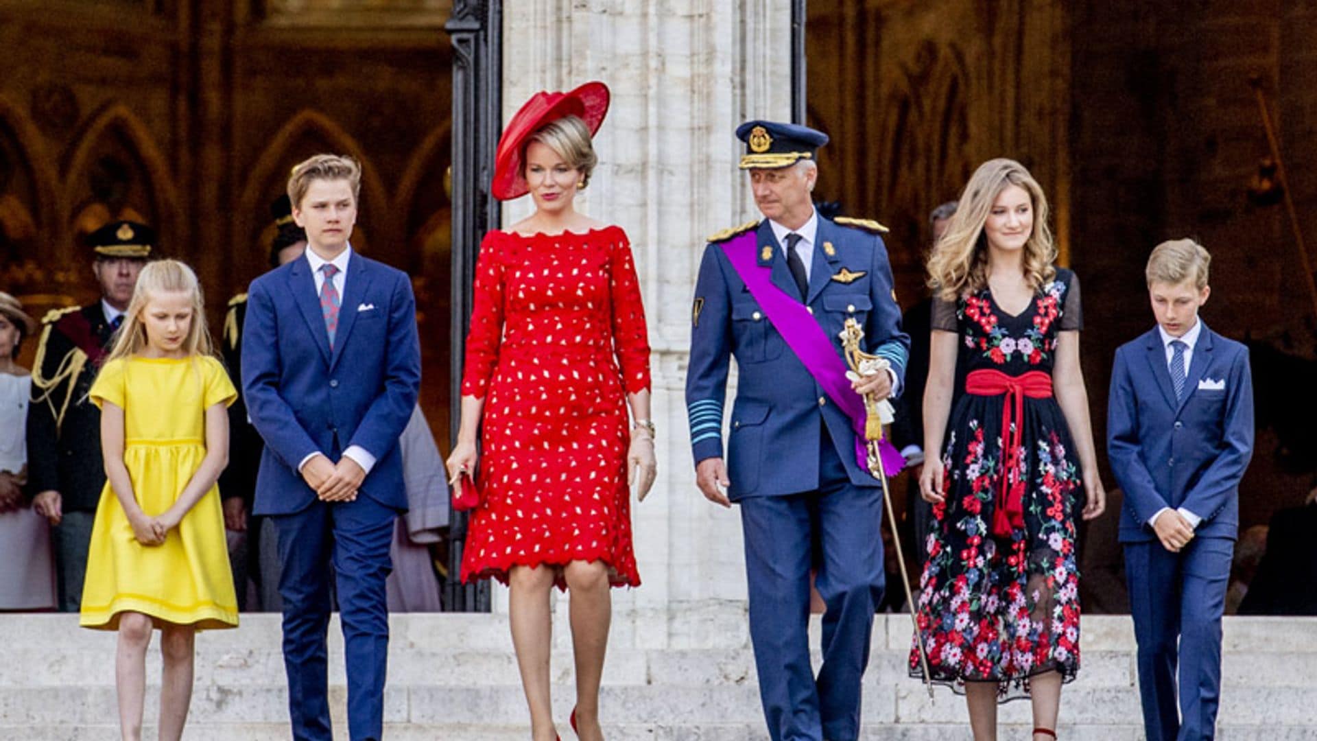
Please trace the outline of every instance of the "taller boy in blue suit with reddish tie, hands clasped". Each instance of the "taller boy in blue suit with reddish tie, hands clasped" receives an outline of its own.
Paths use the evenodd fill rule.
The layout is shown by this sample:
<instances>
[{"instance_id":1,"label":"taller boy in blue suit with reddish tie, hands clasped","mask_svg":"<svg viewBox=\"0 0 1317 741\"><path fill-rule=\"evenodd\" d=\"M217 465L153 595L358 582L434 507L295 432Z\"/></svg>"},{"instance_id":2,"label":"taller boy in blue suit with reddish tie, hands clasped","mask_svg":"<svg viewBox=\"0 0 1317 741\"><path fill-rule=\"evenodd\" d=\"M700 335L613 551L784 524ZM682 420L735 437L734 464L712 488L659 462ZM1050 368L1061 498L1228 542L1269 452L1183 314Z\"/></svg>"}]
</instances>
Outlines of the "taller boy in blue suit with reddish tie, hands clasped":
<instances>
[{"instance_id":1,"label":"taller boy in blue suit with reddish tie, hands clasped","mask_svg":"<svg viewBox=\"0 0 1317 741\"><path fill-rule=\"evenodd\" d=\"M348 244L361 167L317 154L292 169L306 254L252 282L242 389L265 452L253 512L278 534L283 661L298 741L329 741L329 564L348 663L348 729L379 741L389 655L385 580L407 509L402 435L420 386L416 301L400 270Z\"/></svg>"}]
</instances>

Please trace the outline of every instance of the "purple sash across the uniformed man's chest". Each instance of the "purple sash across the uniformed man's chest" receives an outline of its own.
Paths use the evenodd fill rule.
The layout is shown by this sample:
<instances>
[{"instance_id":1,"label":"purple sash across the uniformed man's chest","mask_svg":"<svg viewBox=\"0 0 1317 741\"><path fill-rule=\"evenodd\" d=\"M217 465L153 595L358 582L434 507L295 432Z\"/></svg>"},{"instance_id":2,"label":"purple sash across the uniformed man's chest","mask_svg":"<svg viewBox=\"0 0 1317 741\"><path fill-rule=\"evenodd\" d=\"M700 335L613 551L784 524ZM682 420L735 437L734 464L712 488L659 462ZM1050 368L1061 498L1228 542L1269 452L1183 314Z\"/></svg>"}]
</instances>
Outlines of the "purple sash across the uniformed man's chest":
<instances>
[{"instance_id":1,"label":"purple sash across the uniformed man's chest","mask_svg":"<svg viewBox=\"0 0 1317 741\"><path fill-rule=\"evenodd\" d=\"M786 340L795 357L801 359L805 369L810 372L810 376L814 376L832 403L839 406L851 419L851 426L855 430L855 459L861 471L869 471L869 455L864 438L867 417L864 400L855 393L849 378L846 377L848 370L846 361L842 360L832 344L832 338L823 332L823 327L805 305L773 285L772 270L761 268L755 257L757 241L755 232L745 232L723 243L723 252L727 253L727 260L731 261L736 274L744 281L749 294L759 302L760 309ZM888 476L900 473L905 465L905 458L888 442L886 436L878 442L878 450L882 455L882 471Z\"/></svg>"}]
</instances>

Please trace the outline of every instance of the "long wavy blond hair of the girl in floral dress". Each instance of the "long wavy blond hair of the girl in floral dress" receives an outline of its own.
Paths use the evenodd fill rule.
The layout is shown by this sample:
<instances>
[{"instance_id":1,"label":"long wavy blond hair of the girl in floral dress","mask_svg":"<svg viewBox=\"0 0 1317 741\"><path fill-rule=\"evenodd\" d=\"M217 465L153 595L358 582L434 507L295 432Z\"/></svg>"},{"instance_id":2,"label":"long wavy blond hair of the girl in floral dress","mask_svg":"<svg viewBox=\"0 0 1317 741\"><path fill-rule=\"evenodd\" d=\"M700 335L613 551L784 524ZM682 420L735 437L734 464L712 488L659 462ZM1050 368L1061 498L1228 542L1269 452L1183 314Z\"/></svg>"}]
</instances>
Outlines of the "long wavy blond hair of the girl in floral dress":
<instances>
[{"instance_id":1,"label":"long wavy blond hair of the girl in floral dress","mask_svg":"<svg viewBox=\"0 0 1317 741\"><path fill-rule=\"evenodd\" d=\"M928 286L944 301L976 293L988 286L988 239L984 223L992 206L1009 186L1029 193L1034 204L1034 228L1025 243L1025 281L1035 291L1055 276L1056 245L1047 225L1047 196L1042 186L1014 160L989 160L975 170L960 194L951 223L928 257Z\"/></svg>"}]
</instances>

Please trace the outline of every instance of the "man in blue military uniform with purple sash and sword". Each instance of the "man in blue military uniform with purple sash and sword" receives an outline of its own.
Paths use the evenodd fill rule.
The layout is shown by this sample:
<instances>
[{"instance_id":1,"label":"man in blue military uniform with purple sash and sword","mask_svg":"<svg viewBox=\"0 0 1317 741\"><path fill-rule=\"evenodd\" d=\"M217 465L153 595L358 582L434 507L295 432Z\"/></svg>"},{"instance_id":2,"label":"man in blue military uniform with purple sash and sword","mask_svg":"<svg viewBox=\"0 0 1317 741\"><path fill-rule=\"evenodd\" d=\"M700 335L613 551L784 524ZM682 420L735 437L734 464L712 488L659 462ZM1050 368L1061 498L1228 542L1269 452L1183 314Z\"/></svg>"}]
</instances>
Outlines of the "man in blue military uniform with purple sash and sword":
<instances>
[{"instance_id":1,"label":"man in blue military uniform with purple sash and sword","mask_svg":"<svg viewBox=\"0 0 1317 741\"><path fill-rule=\"evenodd\" d=\"M881 483L857 454L859 393L900 386L909 348L876 222L820 216L814 156L827 136L772 121L736 129L764 219L710 239L691 310L686 405L695 479L740 505L749 629L774 741L855 741L860 679L882 597ZM888 372L846 380L838 334L855 319ZM723 400L739 368L728 459ZM859 419L853 410L859 406ZM857 451L857 447L860 448ZM810 570L827 605L815 679L807 638Z\"/></svg>"}]
</instances>

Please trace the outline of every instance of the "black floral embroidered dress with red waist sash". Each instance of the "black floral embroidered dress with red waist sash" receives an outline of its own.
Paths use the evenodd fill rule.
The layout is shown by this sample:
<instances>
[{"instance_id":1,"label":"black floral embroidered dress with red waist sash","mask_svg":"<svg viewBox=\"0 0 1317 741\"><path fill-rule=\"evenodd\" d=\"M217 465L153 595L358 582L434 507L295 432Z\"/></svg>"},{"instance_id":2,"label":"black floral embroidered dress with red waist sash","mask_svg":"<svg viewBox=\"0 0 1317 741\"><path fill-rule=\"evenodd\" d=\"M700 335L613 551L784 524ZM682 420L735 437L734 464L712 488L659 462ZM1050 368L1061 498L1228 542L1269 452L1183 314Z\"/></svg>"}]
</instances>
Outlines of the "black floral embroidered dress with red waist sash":
<instances>
[{"instance_id":1,"label":"black floral embroidered dress with red waist sash","mask_svg":"<svg viewBox=\"0 0 1317 741\"><path fill-rule=\"evenodd\" d=\"M1006 701L1027 696L1035 674L1079 671L1083 483L1051 390L1058 332L1081 328L1079 282L1058 269L1017 316L986 289L934 301L932 328L956 332L960 353L919 633L934 682L996 682ZM922 676L917 649L910 675Z\"/></svg>"}]
</instances>

